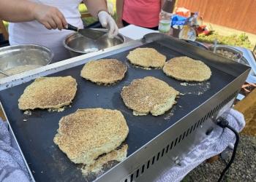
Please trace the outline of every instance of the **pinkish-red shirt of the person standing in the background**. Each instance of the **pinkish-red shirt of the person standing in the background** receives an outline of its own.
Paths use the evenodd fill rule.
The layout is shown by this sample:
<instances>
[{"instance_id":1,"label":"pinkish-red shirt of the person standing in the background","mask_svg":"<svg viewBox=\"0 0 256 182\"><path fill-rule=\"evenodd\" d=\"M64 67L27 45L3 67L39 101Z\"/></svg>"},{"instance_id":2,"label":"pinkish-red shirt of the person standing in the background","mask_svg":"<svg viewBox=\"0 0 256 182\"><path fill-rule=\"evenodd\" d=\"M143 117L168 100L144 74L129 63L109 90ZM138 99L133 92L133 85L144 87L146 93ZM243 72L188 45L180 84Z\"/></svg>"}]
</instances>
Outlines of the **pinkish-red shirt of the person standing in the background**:
<instances>
[{"instance_id":1,"label":"pinkish-red shirt of the person standing in the background","mask_svg":"<svg viewBox=\"0 0 256 182\"><path fill-rule=\"evenodd\" d=\"M159 24L160 0L124 0L123 20L152 28Z\"/></svg>"}]
</instances>

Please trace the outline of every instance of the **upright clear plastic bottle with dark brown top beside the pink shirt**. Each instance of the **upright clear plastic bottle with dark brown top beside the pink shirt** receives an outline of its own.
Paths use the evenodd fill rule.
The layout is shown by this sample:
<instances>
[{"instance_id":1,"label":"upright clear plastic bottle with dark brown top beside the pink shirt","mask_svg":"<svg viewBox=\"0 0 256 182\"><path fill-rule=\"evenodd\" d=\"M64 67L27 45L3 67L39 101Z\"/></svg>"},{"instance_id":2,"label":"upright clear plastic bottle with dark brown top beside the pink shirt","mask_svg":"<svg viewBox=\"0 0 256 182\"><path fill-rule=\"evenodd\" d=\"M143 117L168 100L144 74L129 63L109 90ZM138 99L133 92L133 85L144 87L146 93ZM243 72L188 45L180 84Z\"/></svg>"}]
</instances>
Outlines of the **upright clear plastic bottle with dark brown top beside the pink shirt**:
<instances>
[{"instance_id":1,"label":"upright clear plastic bottle with dark brown top beside the pink shirt","mask_svg":"<svg viewBox=\"0 0 256 182\"><path fill-rule=\"evenodd\" d=\"M176 0L166 0L159 14L158 31L170 36L170 23L173 17L173 9Z\"/></svg>"}]
</instances>

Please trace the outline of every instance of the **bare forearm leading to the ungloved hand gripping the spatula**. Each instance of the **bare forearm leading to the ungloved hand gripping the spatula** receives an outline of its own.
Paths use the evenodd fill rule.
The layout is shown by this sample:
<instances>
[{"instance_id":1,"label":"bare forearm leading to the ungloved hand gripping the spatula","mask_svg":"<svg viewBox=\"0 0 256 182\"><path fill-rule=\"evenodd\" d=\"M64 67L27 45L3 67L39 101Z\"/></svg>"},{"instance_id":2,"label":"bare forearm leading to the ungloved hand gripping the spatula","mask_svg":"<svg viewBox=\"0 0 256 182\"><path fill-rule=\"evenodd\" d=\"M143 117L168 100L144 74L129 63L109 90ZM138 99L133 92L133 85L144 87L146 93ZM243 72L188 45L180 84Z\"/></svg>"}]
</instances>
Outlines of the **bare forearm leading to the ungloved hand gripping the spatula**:
<instances>
[{"instance_id":1,"label":"bare forearm leading to the ungloved hand gripping the spatula","mask_svg":"<svg viewBox=\"0 0 256 182\"><path fill-rule=\"evenodd\" d=\"M34 19L33 9L37 5L27 0L0 0L0 19L8 22L25 22Z\"/></svg>"}]
</instances>

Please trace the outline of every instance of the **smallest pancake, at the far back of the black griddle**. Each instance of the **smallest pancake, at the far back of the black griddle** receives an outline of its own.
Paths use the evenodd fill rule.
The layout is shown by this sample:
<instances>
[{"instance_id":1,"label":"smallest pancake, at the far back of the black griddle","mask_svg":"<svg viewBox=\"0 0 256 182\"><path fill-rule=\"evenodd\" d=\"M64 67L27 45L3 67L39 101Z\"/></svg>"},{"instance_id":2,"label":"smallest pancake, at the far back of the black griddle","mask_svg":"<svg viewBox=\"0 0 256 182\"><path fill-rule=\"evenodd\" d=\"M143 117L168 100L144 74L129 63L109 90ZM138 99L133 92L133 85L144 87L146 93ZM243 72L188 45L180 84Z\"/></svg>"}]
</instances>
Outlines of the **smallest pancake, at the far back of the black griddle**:
<instances>
[{"instance_id":1,"label":"smallest pancake, at the far back of the black griddle","mask_svg":"<svg viewBox=\"0 0 256 182\"><path fill-rule=\"evenodd\" d=\"M135 65L144 68L162 68L165 65L166 57L153 48L137 48L127 55L127 59Z\"/></svg>"}]
</instances>

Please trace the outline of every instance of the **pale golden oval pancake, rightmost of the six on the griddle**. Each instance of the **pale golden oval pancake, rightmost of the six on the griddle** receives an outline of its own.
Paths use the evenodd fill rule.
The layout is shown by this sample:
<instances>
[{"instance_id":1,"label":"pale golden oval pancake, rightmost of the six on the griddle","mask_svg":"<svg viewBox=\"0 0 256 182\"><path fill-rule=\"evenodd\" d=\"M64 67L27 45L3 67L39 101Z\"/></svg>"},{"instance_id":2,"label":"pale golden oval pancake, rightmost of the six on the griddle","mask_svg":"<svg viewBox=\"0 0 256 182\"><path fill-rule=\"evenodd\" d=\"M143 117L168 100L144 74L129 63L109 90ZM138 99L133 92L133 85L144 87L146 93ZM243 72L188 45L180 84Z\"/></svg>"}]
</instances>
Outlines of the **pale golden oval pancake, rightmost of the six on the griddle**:
<instances>
[{"instance_id":1,"label":"pale golden oval pancake, rightmost of the six on the griddle","mask_svg":"<svg viewBox=\"0 0 256 182\"><path fill-rule=\"evenodd\" d=\"M186 82L203 82L211 77L211 69L205 63L188 57L172 58L162 70L167 76Z\"/></svg>"}]
</instances>

